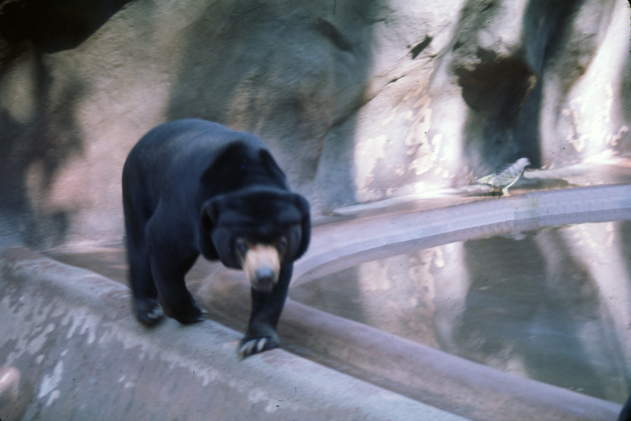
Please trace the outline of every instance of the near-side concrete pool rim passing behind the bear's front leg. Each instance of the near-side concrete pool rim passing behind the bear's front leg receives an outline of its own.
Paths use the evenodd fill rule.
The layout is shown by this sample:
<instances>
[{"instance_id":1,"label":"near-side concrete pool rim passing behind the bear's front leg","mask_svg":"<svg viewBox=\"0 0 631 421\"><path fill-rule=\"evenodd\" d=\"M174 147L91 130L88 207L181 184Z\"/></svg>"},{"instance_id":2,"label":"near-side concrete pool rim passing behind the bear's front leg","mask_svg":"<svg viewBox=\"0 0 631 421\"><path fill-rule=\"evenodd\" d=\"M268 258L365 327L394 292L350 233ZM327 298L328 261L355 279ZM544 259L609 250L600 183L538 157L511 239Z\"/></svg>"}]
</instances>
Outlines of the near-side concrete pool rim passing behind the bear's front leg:
<instances>
[{"instance_id":1,"label":"near-side concrete pool rim passing behind the bear's front leg","mask_svg":"<svg viewBox=\"0 0 631 421\"><path fill-rule=\"evenodd\" d=\"M206 307L247 323L247 283L224 278L207 289ZM622 405L501 372L288 299L281 346L437 408L476 420L606 421Z\"/></svg>"}]
</instances>

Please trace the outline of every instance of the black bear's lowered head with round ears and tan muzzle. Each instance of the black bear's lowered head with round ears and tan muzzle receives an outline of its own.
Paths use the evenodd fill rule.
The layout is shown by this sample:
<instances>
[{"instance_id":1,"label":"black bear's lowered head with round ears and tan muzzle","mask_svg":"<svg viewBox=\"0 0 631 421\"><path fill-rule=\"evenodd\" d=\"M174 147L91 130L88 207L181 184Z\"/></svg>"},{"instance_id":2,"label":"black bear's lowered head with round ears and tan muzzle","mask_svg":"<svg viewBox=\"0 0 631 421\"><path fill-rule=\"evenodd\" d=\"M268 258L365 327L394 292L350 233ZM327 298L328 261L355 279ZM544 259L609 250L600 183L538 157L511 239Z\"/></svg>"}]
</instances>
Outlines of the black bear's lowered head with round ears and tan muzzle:
<instances>
[{"instance_id":1,"label":"black bear's lowered head with round ears and tan muzzle","mask_svg":"<svg viewBox=\"0 0 631 421\"><path fill-rule=\"evenodd\" d=\"M205 258L243 269L252 288L266 292L278 282L281 266L309 246L309 203L281 189L220 194L202 206L200 228Z\"/></svg>"}]
</instances>

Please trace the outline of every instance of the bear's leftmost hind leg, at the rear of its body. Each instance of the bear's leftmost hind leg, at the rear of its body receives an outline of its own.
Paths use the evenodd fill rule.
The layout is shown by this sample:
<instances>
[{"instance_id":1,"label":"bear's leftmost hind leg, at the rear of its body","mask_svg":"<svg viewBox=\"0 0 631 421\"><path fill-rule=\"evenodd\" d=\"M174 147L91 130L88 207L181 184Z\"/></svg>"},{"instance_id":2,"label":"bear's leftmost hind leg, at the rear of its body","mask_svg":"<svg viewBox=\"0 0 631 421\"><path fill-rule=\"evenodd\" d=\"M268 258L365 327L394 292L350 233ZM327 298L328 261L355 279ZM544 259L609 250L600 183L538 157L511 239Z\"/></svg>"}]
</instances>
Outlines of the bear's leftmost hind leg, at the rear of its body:
<instances>
[{"instance_id":1,"label":"bear's leftmost hind leg, at the rear of its body","mask_svg":"<svg viewBox=\"0 0 631 421\"><path fill-rule=\"evenodd\" d=\"M164 317L157 300L158 290L151 276L146 247L141 241L134 241L131 237L132 235L127 235L127 261L136 318L145 326L154 326Z\"/></svg>"}]
</instances>

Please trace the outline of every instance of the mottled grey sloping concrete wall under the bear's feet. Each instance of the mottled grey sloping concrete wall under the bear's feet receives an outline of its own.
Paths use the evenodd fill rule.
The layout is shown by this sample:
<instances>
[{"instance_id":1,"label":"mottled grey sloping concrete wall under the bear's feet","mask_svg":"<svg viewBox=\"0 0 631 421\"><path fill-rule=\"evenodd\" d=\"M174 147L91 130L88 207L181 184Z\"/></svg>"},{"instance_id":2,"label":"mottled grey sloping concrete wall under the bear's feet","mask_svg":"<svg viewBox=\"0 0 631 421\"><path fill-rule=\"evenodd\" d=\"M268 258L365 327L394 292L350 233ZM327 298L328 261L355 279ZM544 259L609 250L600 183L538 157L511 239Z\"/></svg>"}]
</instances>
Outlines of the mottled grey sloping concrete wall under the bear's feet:
<instances>
[{"instance_id":1,"label":"mottled grey sloping concrete wall under the bear's feet","mask_svg":"<svg viewBox=\"0 0 631 421\"><path fill-rule=\"evenodd\" d=\"M127 287L37 252L0 264L3 420L464 420L284 350L240 362L212 321L144 329Z\"/></svg>"}]
</instances>

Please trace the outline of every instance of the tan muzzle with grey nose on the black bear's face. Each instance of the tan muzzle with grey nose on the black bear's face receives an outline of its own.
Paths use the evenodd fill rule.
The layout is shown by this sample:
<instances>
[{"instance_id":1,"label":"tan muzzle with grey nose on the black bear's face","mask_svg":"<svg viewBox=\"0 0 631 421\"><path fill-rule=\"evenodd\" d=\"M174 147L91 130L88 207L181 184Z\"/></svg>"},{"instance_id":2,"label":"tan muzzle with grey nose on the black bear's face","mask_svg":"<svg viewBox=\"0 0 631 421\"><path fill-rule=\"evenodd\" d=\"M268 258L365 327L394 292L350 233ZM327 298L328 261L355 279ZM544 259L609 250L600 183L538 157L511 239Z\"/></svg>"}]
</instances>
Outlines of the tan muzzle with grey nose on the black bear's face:
<instances>
[{"instance_id":1,"label":"tan muzzle with grey nose on the black bear's face","mask_svg":"<svg viewBox=\"0 0 631 421\"><path fill-rule=\"evenodd\" d=\"M278 250L267 244L252 244L245 254L242 267L254 289L269 291L278 282L280 272Z\"/></svg>"}]
</instances>

